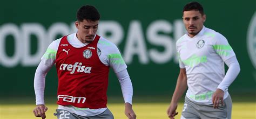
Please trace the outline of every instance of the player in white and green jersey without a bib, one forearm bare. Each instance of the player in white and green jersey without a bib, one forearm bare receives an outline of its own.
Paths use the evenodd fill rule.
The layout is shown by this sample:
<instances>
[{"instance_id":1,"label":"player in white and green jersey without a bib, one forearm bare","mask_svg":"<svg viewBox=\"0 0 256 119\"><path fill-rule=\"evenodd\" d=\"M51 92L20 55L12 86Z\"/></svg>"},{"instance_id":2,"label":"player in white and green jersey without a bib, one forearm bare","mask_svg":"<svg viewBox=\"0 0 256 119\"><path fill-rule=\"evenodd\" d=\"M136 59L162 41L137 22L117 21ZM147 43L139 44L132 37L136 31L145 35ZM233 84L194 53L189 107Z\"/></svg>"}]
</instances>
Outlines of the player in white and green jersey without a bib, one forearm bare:
<instances>
[{"instance_id":1,"label":"player in white and green jersey without a bib, one forearm bare","mask_svg":"<svg viewBox=\"0 0 256 119\"><path fill-rule=\"evenodd\" d=\"M167 115L174 118L178 101L187 89L181 118L231 118L232 101L228 86L240 72L235 53L227 39L204 26L203 6L184 6L187 33L176 43L180 73ZM225 75L224 62L228 66Z\"/></svg>"}]
</instances>

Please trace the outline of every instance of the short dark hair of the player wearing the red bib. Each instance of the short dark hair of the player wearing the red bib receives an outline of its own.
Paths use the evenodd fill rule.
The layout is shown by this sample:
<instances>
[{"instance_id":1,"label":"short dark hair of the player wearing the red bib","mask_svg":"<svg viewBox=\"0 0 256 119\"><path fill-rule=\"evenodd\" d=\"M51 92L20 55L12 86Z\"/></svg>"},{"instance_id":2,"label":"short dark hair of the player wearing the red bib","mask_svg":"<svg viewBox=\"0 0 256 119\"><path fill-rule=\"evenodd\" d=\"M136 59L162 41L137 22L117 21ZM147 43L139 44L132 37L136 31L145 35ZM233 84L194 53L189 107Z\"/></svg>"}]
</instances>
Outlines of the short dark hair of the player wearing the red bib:
<instances>
[{"instance_id":1,"label":"short dark hair of the player wearing the red bib","mask_svg":"<svg viewBox=\"0 0 256 119\"><path fill-rule=\"evenodd\" d=\"M83 22L84 19L95 22L96 20L99 20L99 18L100 15L98 10L92 5L83 5L77 11L78 22Z\"/></svg>"}]
</instances>

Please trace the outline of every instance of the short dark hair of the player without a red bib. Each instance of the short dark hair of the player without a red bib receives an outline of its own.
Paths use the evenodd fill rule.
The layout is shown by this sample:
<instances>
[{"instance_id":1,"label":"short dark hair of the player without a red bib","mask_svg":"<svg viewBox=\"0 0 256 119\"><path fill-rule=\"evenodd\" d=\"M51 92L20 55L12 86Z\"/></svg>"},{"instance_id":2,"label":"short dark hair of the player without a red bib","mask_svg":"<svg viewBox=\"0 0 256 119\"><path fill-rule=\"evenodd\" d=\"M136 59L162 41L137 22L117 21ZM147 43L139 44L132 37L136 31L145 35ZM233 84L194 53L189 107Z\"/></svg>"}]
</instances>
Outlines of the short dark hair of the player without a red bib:
<instances>
[{"instance_id":1,"label":"short dark hair of the player without a red bib","mask_svg":"<svg viewBox=\"0 0 256 119\"><path fill-rule=\"evenodd\" d=\"M196 10L196 11L199 11L201 13L201 15L204 15L204 8L203 6L198 3L198 2L190 2L190 3L187 3L184 8L183 8L183 12L184 11L191 11L191 10Z\"/></svg>"}]
</instances>

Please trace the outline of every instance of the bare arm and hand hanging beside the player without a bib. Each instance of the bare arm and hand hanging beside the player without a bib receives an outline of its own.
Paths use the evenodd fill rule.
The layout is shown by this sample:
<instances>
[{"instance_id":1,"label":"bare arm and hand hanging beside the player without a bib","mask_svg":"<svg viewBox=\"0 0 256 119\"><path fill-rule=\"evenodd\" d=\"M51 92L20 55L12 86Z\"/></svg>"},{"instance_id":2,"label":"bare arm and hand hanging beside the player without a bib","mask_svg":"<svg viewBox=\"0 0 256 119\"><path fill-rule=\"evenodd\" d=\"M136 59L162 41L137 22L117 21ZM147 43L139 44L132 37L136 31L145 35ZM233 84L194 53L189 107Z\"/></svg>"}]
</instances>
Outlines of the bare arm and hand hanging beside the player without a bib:
<instances>
[{"instance_id":1,"label":"bare arm and hand hanging beside the player without a bib","mask_svg":"<svg viewBox=\"0 0 256 119\"><path fill-rule=\"evenodd\" d=\"M172 95L172 101L170 103L169 108L167 109L167 115L169 118L174 118L174 116L178 114L178 112L176 112L176 109L178 107L178 101L180 100L181 96L184 94L186 89L187 89L186 69L180 68L176 88Z\"/></svg>"}]
</instances>

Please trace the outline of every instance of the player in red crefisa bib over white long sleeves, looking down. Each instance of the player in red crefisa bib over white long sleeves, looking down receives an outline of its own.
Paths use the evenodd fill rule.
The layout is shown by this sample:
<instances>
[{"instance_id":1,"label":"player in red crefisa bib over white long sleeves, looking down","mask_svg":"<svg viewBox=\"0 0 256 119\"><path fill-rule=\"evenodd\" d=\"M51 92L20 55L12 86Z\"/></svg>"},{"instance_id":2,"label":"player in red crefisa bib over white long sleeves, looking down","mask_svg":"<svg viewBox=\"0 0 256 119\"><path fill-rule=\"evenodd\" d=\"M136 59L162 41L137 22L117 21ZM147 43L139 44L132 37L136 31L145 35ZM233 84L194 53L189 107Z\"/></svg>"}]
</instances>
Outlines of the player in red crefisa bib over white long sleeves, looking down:
<instances>
[{"instance_id":1,"label":"player in red crefisa bib over white long sleeves, looking down","mask_svg":"<svg viewBox=\"0 0 256 119\"><path fill-rule=\"evenodd\" d=\"M125 115L136 118L132 109L132 83L127 66L116 45L96 34L100 14L94 6L77 11L77 32L53 41L35 73L36 117L46 118L44 103L45 76L56 64L58 92L57 118L106 118L109 68L116 73L125 101Z\"/></svg>"}]
</instances>

